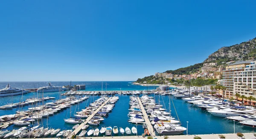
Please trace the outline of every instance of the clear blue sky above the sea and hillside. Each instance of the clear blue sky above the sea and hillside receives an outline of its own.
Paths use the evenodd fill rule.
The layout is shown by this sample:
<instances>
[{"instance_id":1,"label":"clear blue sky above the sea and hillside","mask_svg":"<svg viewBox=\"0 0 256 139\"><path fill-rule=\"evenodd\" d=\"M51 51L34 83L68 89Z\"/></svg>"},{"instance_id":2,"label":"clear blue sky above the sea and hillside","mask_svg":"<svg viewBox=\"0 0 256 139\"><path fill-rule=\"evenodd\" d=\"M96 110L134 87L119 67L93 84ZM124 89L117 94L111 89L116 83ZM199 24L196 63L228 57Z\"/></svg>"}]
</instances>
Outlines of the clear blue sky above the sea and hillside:
<instances>
[{"instance_id":1,"label":"clear blue sky above the sea and hillside","mask_svg":"<svg viewBox=\"0 0 256 139\"><path fill-rule=\"evenodd\" d=\"M0 0L0 81L135 81L256 37L255 0Z\"/></svg>"}]
</instances>

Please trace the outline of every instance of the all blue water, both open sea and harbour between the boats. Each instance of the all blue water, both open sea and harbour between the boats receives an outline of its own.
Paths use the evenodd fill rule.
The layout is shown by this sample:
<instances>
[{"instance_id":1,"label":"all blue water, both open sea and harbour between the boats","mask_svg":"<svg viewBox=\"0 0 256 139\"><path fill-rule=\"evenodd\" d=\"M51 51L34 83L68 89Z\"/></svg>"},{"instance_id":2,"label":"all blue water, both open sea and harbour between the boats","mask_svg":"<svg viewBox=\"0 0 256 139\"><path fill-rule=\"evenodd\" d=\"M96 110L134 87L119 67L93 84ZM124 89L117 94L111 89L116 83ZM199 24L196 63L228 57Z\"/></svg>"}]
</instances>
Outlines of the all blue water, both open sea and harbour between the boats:
<instances>
[{"instance_id":1,"label":"all blue water, both open sea and harbour between the boats","mask_svg":"<svg viewBox=\"0 0 256 139\"><path fill-rule=\"evenodd\" d=\"M0 82L0 88L4 88L6 86L7 82ZM24 86L24 88L35 88L43 87L47 85L47 82L9 82L9 84L12 87L18 87L21 88ZM72 82L72 85L74 84L86 84L86 91L101 91L102 90L102 82ZM69 85L69 82L52 82L52 85L55 86L63 86L63 85ZM35 86L35 87L34 87ZM148 86L148 90L152 90L156 88L156 86ZM105 89L105 82L103 82L103 90ZM147 87L138 86L131 84L130 81L108 81L107 82L107 90L147 90ZM62 92L64 93L64 92ZM39 97L41 97L43 94L38 94ZM33 98L36 97L37 93L28 93L23 95L23 101L26 100L26 98ZM50 96L55 97L56 99L59 99L59 92L49 92L44 93L44 97ZM101 129L102 126L117 126L122 127L125 129L125 127L136 127L138 130L138 135L141 135L144 133L144 130L142 128L142 125L138 124L131 124L128 122L128 109L130 101L128 95L119 95L115 94L115 96L119 96L119 100L116 101L115 107L113 108L112 112L109 113L109 116L105 118L103 122L100 123L99 126L90 126L87 130L90 130L91 128L99 128ZM140 95L142 96L142 94ZM161 95L154 95L151 94L149 96L153 96L156 100L156 102L160 101L160 104L162 104L164 107L166 107L167 110L170 109L169 107L169 96L161 96ZM64 97L64 96L61 96ZM81 109L84 109L86 106L88 106L90 103L93 102L93 100L98 99L99 96L90 96L87 100L79 103L78 105L72 105L71 106L71 116L76 111L79 111ZM183 127L187 127L188 122L188 133L189 134L212 134L212 133L233 133L234 132L234 123L231 120L224 119L223 117L216 117L212 116L209 113L207 113L204 110L198 109L198 107L193 107L192 104L186 103L182 99L176 99L173 96L171 96L171 110L172 110L172 116L176 119L179 118L181 121L181 124ZM55 100L47 100L46 102L52 102ZM21 95L18 96L8 96L8 97L1 97L0 98L0 106L9 104L9 103L17 103L21 101ZM174 104L174 105L173 105ZM177 115L175 113L174 106L177 110ZM23 110L27 110L28 107L32 107L31 104L26 105L23 107ZM1 109L0 110L0 116L2 115L8 115L8 114L14 114L16 110L19 110L20 107L14 108L14 109ZM79 110L78 110L79 109ZM61 110L58 113L55 113L53 116L49 116L48 119L48 127L52 128L67 128L71 129L74 125L68 124L64 122L65 118L70 117L70 108ZM40 122L40 125L44 125L44 127L47 127L47 118L43 118ZM37 122L35 122L37 124ZM12 129L18 129L20 127L11 125L9 126L8 130ZM253 128L250 127L242 127L240 124L235 123L235 132L253 132ZM186 131L184 132L184 134ZM121 136L122 134L114 135L113 136ZM86 135L87 136L87 135ZM103 135L101 135L103 136Z\"/></svg>"}]
</instances>

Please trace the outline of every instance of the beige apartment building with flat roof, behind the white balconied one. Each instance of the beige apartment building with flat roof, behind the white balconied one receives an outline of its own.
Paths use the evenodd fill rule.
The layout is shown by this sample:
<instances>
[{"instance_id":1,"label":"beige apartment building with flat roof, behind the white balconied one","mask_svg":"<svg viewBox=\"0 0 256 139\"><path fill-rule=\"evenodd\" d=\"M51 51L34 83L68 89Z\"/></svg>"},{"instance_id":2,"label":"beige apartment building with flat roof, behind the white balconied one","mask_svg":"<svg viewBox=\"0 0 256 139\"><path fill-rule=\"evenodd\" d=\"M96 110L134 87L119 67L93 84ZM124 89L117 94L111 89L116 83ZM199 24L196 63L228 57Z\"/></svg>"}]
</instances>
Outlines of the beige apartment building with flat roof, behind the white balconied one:
<instances>
[{"instance_id":1,"label":"beige apartment building with flat roof, behind the white balconied one","mask_svg":"<svg viewBox=\"0 0 256 139\"><path fill-rule=\"evenodd\" d=\"M244 68L250 64L250 61L239 61L233 64L226 66L226 69L223 70L223 86L226 87L224 92L224 97L233 97L234 95L234 72L243 71Z\"/></svg>"}]
</instances>

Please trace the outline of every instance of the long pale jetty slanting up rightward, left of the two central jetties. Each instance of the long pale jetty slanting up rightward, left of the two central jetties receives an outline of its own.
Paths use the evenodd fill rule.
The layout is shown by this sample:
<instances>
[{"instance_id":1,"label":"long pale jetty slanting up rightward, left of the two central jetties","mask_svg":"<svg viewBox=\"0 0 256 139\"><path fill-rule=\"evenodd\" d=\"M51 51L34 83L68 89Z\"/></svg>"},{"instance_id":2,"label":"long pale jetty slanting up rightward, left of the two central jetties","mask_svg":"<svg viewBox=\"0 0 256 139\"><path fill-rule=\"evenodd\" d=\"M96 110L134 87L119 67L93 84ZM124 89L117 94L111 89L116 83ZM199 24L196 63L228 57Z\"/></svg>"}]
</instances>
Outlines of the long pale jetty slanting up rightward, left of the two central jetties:
<instances>
[{"instance_id":1,"label":"long pale jetty slanting up rightward, left of the two central jetties","mask_svg":"<svg viewBox=\"0 0 256 139\"><path fill-rule=\"evenodd\" d=\"M82 129L82 127L84 125L86 125L92 118L93 116L99 112L100 109L102 109L103 106L105 106L105 104L108 103L108 101L110 101L112 99L112 97L108 98L108 100L106 100L97 110L95 110L86 120L84 120L83 123L81 123L79 125L79 127L77 127L69 136L67 136L66 139L71 139L73 135L76 135L77 133L79 133L79 131Z\"/></svg>"}]
</instances>

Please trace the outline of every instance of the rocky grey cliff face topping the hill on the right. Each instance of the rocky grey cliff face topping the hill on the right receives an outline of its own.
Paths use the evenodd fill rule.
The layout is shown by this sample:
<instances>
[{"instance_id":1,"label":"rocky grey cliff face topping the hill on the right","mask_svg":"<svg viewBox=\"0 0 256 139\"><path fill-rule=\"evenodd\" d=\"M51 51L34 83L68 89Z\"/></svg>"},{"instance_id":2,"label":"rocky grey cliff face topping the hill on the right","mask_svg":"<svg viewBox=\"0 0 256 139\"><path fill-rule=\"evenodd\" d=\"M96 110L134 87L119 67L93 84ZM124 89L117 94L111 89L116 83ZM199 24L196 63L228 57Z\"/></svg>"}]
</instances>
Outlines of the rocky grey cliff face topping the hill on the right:
<instances>
[{"instance_id":1,"label":"rocky grey cliff face topping the hill on the right","mask_svg":"<svg viewBox=\"0 0 256 139\"><path fill-rule=\"evenodd\" d=\"M256 38L233 46L221 47L221 49L209 55L204 63L248 60L249 58L256 58Z\"/></svg>"}]
</instances>

